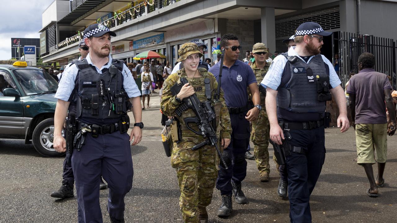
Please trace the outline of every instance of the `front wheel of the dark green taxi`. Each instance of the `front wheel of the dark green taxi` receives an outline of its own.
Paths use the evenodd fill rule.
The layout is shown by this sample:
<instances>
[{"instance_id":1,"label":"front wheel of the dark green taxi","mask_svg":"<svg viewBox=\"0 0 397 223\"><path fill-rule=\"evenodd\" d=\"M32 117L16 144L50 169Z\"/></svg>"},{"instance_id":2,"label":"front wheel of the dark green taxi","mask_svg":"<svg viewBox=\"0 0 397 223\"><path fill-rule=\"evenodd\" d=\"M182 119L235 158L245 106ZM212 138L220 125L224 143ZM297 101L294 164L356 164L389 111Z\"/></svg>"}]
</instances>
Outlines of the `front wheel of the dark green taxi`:
<instances>
[{"instance_id":1,"label":"front wheel of the dark green taxi","mask_svg":"<svg viewBox=\"0 0 397 223\"><path fill-rule=\"evenodd\" d=\"M64 136L64 130L62 130ZM33 146L43 156L58 157L65 153L56 152L54 149L54 119L44 119L36 126L32 135Z\"/></svg>"}]
</instances>

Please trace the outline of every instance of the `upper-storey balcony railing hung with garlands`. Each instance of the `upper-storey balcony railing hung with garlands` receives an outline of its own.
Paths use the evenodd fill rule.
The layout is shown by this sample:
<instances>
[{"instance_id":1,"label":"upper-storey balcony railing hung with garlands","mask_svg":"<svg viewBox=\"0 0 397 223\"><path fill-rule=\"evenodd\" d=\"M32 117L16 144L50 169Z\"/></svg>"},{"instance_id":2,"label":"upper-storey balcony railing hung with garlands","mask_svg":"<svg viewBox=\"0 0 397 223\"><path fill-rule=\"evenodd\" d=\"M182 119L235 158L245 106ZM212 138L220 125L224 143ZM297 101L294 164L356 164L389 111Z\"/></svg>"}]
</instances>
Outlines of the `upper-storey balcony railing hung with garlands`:
<instances>
[{"instance_id":1,"label":"upper-storey balcony railing hung with garlands","mask_svg":"<svg viewBox=\"0 0 397 223\"><path fill-rule=\"evenodd\" d=\"M76 2L78 6L79 4L82 4L84 1L85 0L74 0L73 2ZM114 12L113 17L105 21L102 21L101 24L105 25L110 29L118 25L121 25L123 23L126 23L128 21L131 21L133 19L136 19L138 17L141 17L142 15L145 15L145 13L154 12L160 8L164 8L166 6L169 6L170 4L179 1L180 0L145 0L143 3L133 7L131 6L130 3L129 9L123 12ZM72 4L72 2L70 4ZM81 38L83 38L83 33L80 32L72 37L66 38L66 40L63 40L62 42L58 43L58 49L64 48L65 46L68 46L75 42L79 42Z\"/></svg>"}]
</instances>

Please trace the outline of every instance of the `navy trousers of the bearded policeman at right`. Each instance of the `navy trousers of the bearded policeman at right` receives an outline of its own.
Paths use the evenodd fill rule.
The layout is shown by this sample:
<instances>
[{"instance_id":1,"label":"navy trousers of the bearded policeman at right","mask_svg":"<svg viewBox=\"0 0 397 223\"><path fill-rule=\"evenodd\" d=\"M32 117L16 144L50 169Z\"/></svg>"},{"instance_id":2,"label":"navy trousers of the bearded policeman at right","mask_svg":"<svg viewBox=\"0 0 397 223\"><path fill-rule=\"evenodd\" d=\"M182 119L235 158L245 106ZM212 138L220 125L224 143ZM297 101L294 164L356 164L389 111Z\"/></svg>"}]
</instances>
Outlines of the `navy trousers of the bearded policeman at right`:
<instances>
[{"instance_id":1,"label":"navy trousers of the bearded policeman at right","mask_svg":"<svg viewBox=\"0 0 397 223\"><path fill-rule=\"evenodd\" d=\"M325 160L324 127L291 130L291 146L302 147L306 155L292 152L286 157L288 171L289 217L291 223L311 223L310 194Z\"/></svg>"}]
</instances>

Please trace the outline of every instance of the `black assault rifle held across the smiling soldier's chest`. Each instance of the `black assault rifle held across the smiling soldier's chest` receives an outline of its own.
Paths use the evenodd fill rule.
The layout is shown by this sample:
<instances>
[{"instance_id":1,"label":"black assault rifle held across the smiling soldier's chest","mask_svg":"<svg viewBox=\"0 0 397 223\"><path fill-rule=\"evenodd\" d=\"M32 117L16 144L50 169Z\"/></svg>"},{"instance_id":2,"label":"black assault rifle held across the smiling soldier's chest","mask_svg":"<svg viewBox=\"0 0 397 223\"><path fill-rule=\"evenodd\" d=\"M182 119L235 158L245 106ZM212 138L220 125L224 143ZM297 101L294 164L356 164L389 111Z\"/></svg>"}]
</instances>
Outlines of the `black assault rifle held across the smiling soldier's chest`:
<instances>
[{"instance_id":1,"label":"black assault rifle held across the smiling soldier's chest","mask_svg":"<svg viewBox=\"0 0 397 223\"><path fill-rule=\"evenodd\" d=\"M176 83L171 87L171 92L173 95L177 95L183 85L189 83L186 78L180 79L181 83ZM187 98L183 99L183 103L175 110L175 113L179 116L182 115L182 112L186 111L187 109L193 110L195 112L196 117L187 117L184 119L186 123L186 127L191 130L193 133L197 135L202 135L205 140L200 142L199 144L193 146L192 150L198 150L200 147L205 145L215 146L216 152L222 161L225 169L227 169L227 165L225 160L222 157L222 154L218 148L218 137L216 136L216 132L214 131L216 127L216 114L214 108L211 106L211 101L207 100L206 102L200 102L198 100L197 95L193 94ZM189 124L195 123L197 124L198 131L192 129ZM214 125L215 123L215 125Z\"/></svg>"}]
</instances>

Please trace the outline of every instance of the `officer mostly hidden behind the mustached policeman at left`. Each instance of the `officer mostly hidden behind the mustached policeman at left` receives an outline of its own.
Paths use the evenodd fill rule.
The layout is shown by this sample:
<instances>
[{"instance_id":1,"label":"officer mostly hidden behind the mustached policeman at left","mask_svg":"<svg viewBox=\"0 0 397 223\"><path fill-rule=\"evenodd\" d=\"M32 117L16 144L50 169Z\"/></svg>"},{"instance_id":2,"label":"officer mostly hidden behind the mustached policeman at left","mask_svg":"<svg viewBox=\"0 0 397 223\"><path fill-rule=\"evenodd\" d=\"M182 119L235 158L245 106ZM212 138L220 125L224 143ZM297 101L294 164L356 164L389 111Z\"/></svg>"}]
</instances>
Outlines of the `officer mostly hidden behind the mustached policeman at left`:
<instances>
[{"instance_id":1,"label":"officer mostly hidden behind the mustached policeman at left","mask_svg":"<svg viewBox=\"0 0 397 223\"><path fill-rule=\"evenodd\" d=\"M81 53L81 57L79 57L79 60L82 60L87 57L87 54L89 53L88 47L85 45L84 39L82 39L79 42L79 52ZM72 64L75 62L71 62L67 67L70 67ZM64 68L61 67L60 71L64 71ZM62 73L60 73L59 80L61 81L62 78ZM69 100L69 111L67 113L68 118L71 118L72 115L76 115L76 102L77 98L70 98ZM74 174L73 174L73 169L72 169L72 163L71 163L71 155L70 153L66 153L65 160L64 160L64 165L63 165L63 173L62 173L62 186L59 188L59 190L54 191L51 193L50 196L53 198L71 198L74 196L73 194L73 185L74 185ZM103 182L102 176L99 177L100 182L99 182L99 189L104 190L108 186Z\"/></svg>"}]
</instances>

